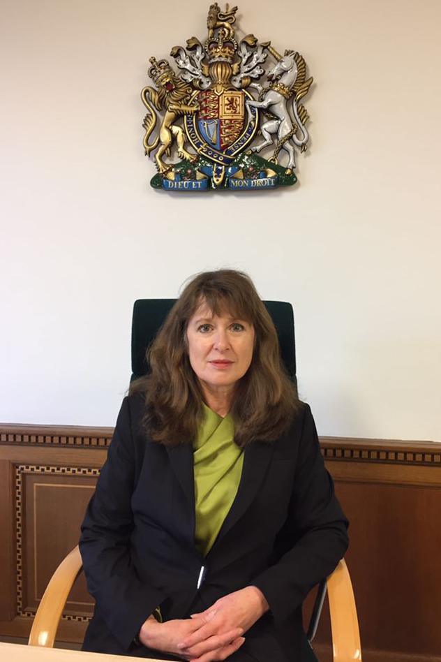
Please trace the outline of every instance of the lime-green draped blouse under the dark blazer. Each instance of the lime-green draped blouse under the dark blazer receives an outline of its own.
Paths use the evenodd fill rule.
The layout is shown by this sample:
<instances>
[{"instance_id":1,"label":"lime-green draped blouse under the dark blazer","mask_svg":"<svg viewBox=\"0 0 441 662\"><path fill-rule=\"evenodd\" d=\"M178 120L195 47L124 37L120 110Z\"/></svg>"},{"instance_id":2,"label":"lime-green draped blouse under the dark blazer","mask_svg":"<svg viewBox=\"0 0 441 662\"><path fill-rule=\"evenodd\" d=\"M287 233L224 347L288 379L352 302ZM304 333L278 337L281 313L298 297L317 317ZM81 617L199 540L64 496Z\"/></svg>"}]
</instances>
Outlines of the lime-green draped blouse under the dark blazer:
<instances>
[{"instance_id":1,"label":"lime-green draped blouse under the dark blazer","mask_svg":"<svg viewBox=\"0 0 441 662\"><path fill-rule=\"evenodd\" d=\"M244 452L234 443L232 416L218 415L206 404L193 444L195 543L207 556L237 494Z\"/></svg>"}]
</instances>

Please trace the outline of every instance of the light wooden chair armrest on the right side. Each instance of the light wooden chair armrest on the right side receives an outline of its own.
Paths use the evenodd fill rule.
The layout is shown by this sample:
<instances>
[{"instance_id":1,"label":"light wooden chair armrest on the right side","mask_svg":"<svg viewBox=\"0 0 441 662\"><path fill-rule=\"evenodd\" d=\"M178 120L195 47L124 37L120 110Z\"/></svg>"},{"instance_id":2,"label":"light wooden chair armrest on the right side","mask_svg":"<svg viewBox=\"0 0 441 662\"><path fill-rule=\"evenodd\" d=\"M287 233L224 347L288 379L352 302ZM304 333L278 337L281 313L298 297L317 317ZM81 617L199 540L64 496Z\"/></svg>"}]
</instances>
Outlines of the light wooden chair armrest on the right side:
<instances>
[{"instance_id":1,"label":"light wooden chair armrest on the right side","mask_svg":"<svg viewBox=\"0 0 441 662\"><path fill-rule=\"evenodd\" d=\"M361 660L357 608L344 559L327 578L327 589L334 662Z\"/></svg>"}]
</instances>

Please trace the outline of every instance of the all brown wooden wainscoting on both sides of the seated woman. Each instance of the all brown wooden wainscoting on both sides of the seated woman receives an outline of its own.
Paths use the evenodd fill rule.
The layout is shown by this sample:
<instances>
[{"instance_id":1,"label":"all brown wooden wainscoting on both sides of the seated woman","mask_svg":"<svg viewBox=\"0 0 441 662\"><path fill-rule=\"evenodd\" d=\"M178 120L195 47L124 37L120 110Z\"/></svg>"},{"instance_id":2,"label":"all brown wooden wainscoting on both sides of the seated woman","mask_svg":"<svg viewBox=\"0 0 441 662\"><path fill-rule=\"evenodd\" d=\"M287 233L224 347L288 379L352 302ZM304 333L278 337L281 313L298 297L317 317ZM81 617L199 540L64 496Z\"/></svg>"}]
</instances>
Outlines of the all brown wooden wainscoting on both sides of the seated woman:
<instances>
[{"instance_id":1,"label":"all brown wooden wainscoting on both sides of the seated woman","mask_svg":"<svg viewBox=\"0 0 441 662\"><path fill-rule=\"evenodd\" d=\"M0 598L0 634L29 633L30 615L47 578L77 540L85 494L92 489L111 436L110 428L0 425L0 490L10 511L0 519L1 533L10 536L0 556L0 580L3 586L9 581L8 597ZM320 441L351 522L346 559L365 662L441 662L441 445ZM20 507L13 481L17 472L22 481ZM19 535L21 612L15 589L20 549L14 539ZM13 578L8 577L8 566ZM88 600L84 584L75 588L61 621L60 640L82 640ZM321 662L331 662L327 606L315 647Z\"/></svg>"}]
</instances>

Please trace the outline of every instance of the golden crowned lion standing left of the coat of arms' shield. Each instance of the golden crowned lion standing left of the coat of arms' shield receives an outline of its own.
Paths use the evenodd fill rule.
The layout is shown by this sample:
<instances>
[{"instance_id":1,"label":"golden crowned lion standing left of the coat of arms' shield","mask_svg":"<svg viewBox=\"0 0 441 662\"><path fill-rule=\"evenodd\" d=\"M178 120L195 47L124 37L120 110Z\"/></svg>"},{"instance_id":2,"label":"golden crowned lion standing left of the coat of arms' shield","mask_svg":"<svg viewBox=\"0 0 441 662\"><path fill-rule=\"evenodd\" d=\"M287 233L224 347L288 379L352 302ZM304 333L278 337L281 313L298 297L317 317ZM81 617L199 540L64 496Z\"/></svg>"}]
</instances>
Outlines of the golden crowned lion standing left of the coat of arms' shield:
<instances>
[{"instance_id":1,"label":"golden crowned lion standing left of the coat of arms' shield","mask_svg":"<svg viewBox=\"0 0 441 662\"><path fill-rule=\"evenodd\" d=\"M144 140L142 142L147 156L160 145L155 155L155 161L156 167L162 175L172 168L172 165L164 163L161 157L164 153L170 156L174 138L176 138L180 158L187 161L196 160L197 157L187 152L184 148L184 131L181 126L177 126L174 122L178 117L196 112L199 107L197 103L188 105L193 89L177 77L167 61L163 60L157 63L154 58L151 58L150 61L153 64L152 70L156 68L154 75L151 77L154 78L158 90L153 87L144 87L141 92L142 102L147 108L147 115L144 117L144 122L142 123L142 126L145 128ZM153 105L151 105L152 103ZM156 126L156 119L158 118L156 110L164 109L165 115L160 125L159 133L155 140L149 143L150 135Z\"/></svg>"}]
</instances>

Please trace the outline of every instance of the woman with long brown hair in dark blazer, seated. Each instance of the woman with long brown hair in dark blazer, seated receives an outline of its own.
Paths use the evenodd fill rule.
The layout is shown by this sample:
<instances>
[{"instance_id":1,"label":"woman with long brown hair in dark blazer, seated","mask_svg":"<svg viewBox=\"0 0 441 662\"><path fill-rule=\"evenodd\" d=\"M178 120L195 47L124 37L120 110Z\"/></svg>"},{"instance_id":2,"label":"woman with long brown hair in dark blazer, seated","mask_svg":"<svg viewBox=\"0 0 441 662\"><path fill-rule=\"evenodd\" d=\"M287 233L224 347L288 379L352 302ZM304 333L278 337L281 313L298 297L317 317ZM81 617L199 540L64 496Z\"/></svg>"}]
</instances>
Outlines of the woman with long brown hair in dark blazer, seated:
<instances>
[{"instance_id":1,"label":"woman with long brown hair in dark blazer, seated","mask_svg":"<svg viewBox=\"0 0 441 662\"><path fill-rule=\"evenodd\" d=\"M301 603L347 522L251 279L197 275L148 358L82 524L84 649L298 661Z\"/></svg>"}]
</instances>

